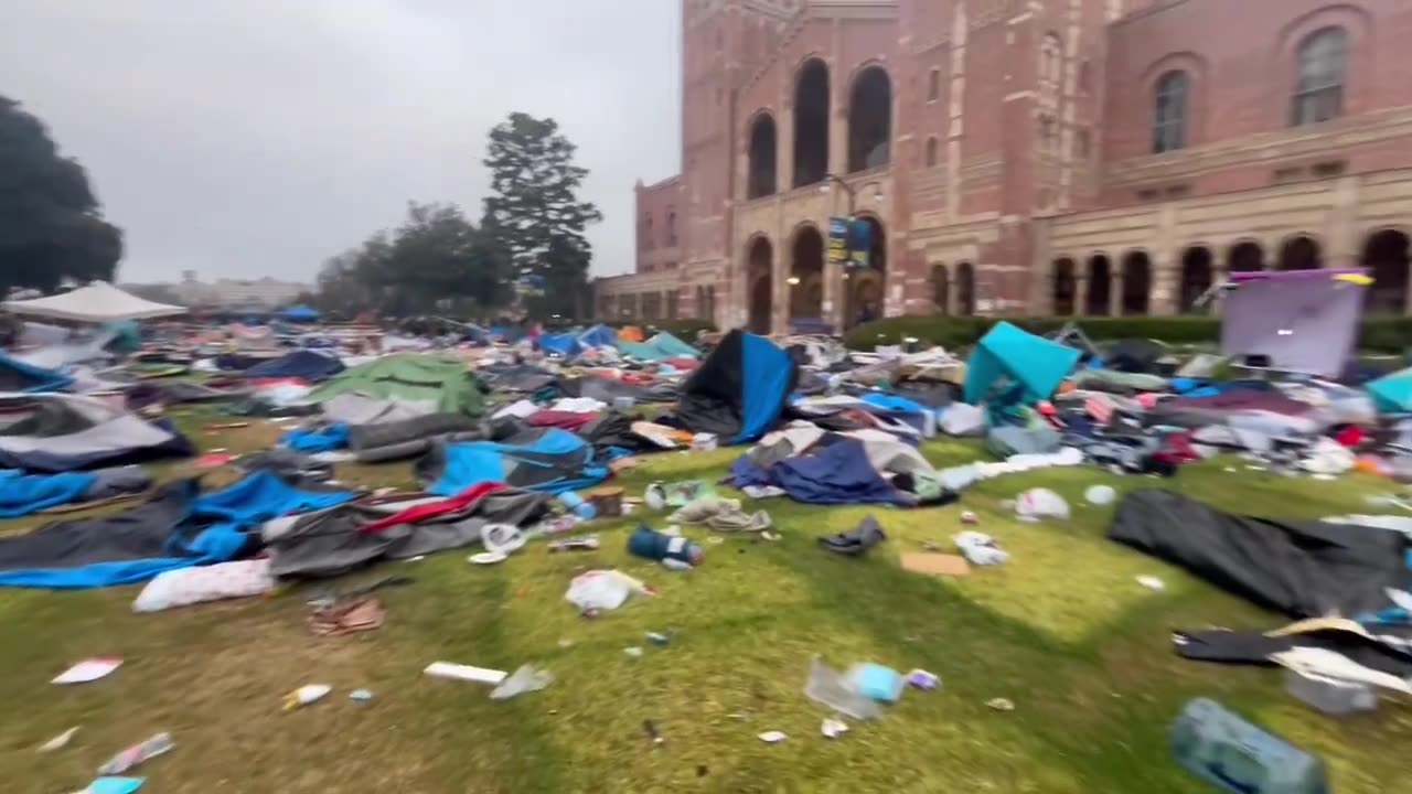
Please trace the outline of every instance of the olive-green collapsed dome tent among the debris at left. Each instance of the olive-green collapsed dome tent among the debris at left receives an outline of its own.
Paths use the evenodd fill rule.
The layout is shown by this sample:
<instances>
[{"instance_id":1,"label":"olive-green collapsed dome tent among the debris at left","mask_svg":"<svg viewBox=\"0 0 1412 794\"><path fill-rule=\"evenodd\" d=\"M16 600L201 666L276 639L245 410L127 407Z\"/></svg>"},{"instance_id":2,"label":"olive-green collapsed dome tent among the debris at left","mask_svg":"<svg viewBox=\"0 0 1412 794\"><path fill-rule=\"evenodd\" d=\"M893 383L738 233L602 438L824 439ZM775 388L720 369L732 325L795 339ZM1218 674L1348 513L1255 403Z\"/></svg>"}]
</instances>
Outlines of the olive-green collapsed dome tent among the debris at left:
<instances>
[{"instance_id":1,"label":"olive-green collapsed dome tent among the debris at left","mask_svg":"<svg viewBox=\"0 0 1412 794\"><path fill-rule=\"evenodd\" d=\"M323 403L339 394L429 403L446 414L479 417L486 413L480 381L466 369L466 362L449 356L383 356L339 373L309 393L309 400Z\"/></svg>"}]
</instances>

